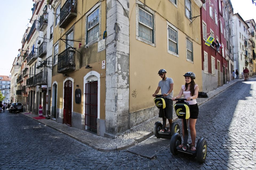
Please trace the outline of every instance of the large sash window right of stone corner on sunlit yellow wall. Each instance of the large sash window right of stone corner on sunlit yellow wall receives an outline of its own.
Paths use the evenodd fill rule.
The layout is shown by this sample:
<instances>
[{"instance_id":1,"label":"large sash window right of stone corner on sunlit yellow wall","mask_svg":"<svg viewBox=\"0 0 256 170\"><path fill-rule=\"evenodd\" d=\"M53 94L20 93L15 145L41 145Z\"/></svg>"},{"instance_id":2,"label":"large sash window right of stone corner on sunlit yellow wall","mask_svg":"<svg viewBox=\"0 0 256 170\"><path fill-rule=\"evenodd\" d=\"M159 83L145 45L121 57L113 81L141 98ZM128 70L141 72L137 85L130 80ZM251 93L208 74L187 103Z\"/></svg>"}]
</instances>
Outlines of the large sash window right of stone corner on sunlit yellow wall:
<instances>
[{"instance_id":1,"label":"large sash window right of stone corner on sunlit yellow wall","mask_svg":"<svg viewBox=\"0 0 256 170\"><path fill-rule=\"evenodd\" d=\"M139 8L139 37L153 42L153 15Z\"/></svg>"}]
</instances>

